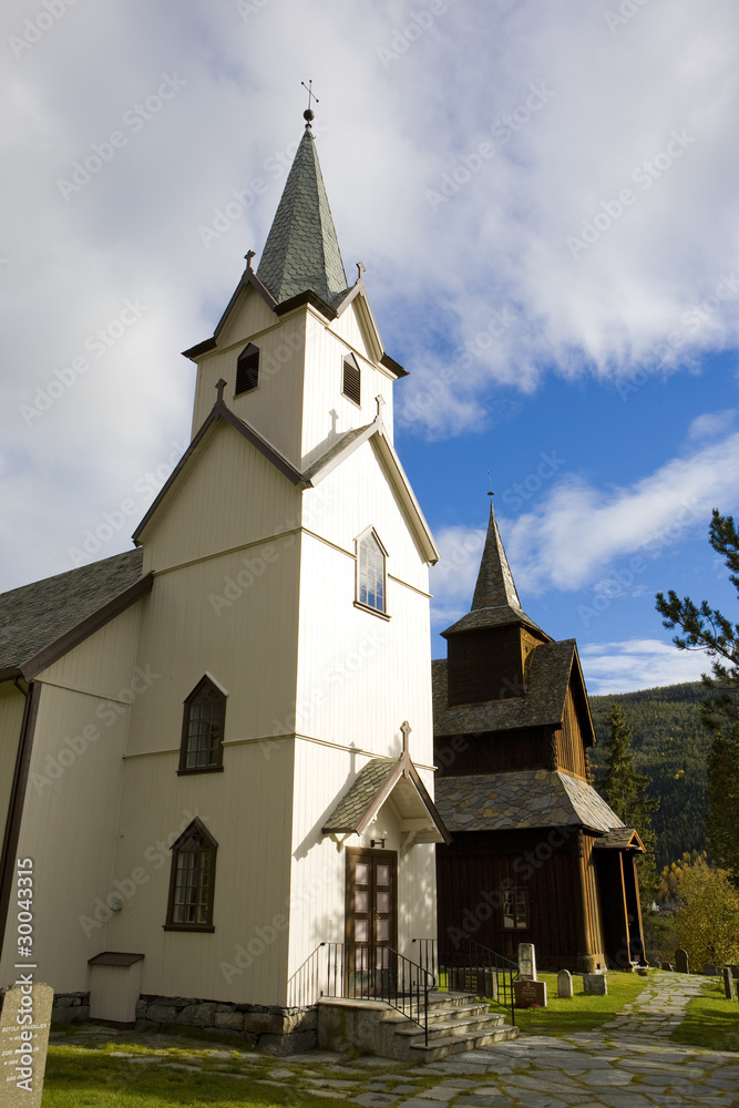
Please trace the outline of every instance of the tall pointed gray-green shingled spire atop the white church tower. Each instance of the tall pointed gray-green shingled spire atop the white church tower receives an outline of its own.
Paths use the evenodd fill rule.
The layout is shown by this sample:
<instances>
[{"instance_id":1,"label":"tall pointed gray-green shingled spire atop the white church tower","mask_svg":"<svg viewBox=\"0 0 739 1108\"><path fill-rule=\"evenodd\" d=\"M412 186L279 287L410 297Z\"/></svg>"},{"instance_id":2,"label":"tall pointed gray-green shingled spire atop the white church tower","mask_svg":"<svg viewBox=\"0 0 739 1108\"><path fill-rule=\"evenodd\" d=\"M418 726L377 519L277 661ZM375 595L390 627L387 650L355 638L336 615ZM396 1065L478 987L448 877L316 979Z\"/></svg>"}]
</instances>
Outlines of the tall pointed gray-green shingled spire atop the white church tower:
<instances>
[{"instance_id":1,"label":"tall pointed gray-green shingled spire atop the white church tower","mask_svg":"<svg viewBox=\"0 0 739 1108\"><path fill-rule=\"evenodd\" d=\"M278 304L310 289L335 307L347 291L347 275L310 125L295 155L257 277Z\"/></svg>"}]
</instances>

